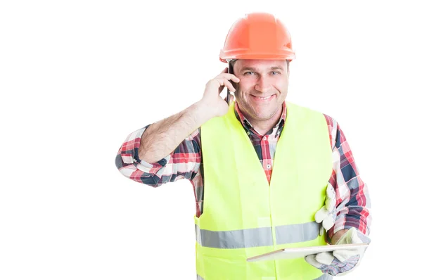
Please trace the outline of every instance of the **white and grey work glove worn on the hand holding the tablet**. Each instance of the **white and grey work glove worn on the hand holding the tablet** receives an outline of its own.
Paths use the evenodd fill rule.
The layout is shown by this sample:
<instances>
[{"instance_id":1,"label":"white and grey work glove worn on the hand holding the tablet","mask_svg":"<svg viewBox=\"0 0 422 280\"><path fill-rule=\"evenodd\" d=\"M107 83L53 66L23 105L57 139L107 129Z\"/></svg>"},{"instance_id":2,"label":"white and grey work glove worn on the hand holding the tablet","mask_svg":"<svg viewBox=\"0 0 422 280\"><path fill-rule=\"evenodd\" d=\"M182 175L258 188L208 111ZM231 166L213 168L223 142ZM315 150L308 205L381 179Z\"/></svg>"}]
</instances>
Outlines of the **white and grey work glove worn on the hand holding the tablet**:
<instances>
[{"instance_id":1,"label":"white and grey work glove worn on the hand holding the tablet","mask_svg":"<svg viewBox=\"0 0 422 280\"><path fill-rule=\"evenodd\" d=\"M343 236L338 239L335 244L357 244L370 243L371 239L368 236L360 233L352 227ZM365 253L365 248L354 250L334 250L333 252L324 252L314 255L307 255L305 260L309 265L321 269L322 272L331 275L344 275L352 272Z\"/></svg>"}]
</instances>

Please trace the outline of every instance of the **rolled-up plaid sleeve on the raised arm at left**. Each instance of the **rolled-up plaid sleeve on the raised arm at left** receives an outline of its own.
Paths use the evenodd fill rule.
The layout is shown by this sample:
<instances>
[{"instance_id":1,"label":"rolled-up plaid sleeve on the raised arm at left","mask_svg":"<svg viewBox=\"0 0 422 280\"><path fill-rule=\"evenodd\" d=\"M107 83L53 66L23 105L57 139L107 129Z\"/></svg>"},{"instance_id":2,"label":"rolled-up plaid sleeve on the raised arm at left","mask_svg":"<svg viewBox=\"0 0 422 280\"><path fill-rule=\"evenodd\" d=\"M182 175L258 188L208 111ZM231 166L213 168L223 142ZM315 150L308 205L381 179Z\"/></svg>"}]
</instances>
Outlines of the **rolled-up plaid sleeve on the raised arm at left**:
<instances>
[{"instance_id":1,"label":"rolled-up plaid sleeve on the raised arm at left","mask_svg":"<svg viewBox=\"0 0 422 280\"><path fill-rule=\"evenodd\" d=\"M177 148L157 163L147 163L138 157L143 132L149 127L132 132L120 147L115 165L129 179L148 186L161 186L178 179L189 179L198 173L200 167L200 136L196 129Z\"/></svg>"}]
</instances>

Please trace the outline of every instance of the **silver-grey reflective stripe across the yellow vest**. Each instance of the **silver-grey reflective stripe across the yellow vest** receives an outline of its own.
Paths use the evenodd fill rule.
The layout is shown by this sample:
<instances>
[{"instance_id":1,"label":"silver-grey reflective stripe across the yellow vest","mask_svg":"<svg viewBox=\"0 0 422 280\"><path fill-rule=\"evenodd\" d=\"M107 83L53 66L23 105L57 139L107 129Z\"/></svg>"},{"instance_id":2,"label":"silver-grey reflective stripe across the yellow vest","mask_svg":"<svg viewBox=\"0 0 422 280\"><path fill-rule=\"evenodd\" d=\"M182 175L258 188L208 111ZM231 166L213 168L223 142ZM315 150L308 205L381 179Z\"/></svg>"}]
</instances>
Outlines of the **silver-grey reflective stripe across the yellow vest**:
<instances>
[{"instance_id":1,"label":"silver-grey reflective stripe across the yellow vest","mask_svg":"<svg viewBox=\"0 0 422 280\"><path fill-rule=\"evenodd\" d=\"M296 243L313 240L318 236L319 224L289 224L276 229L276 244ZM238 229L234 231L209 231L195 225L196 241L203 247L236 249L273 245L271 227Z\"/></svg>"}]
</instances>

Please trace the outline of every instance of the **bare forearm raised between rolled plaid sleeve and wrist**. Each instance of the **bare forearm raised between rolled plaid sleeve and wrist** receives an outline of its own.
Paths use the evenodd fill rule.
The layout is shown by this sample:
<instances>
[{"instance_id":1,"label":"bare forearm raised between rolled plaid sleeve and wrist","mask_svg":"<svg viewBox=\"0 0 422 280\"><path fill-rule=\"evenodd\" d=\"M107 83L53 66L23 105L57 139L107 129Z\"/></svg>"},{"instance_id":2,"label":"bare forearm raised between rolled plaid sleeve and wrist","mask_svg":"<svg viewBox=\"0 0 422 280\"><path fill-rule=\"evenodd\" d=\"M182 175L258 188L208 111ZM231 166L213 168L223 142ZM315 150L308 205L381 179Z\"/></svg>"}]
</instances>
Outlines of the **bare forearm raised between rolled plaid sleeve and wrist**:
<instances>
[{"instance_id":1,"label":"bare forearm raised between rolled plaid sleeve and wrist","mask_svg":"<svg viewBox=\"0 0 422 280\"><path fill-rule=\"evenodd\" d=\"M139 159L148 163L161 160L211 117L212 115L198 102L180 113L153 123L143 133Z\"/></svg>"}]
</instances>

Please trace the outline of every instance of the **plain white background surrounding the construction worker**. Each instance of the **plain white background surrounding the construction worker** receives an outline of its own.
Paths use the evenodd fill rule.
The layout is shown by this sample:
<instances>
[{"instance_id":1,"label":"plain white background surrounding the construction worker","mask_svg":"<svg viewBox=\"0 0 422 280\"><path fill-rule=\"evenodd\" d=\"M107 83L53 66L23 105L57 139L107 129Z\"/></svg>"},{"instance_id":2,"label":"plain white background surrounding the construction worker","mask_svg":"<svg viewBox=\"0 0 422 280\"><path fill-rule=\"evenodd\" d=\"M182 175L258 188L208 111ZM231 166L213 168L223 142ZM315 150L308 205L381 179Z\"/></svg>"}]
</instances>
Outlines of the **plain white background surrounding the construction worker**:
<instances>
[{"instance_id":1,"label":"plain white background surrounding the construction worker","mask_svg":"<svg viewBox=\"0 0 422 280\"><path fill-rule=\"evenodd\" d=\"M0 279L196 279L191 184L132 182L115 155L201 98L253 11L292 35L288 100L338 120L369 185L373 242L343 279L418 278L417 1L271 2L1 2Z\"/></svg>"}]
</instances>

